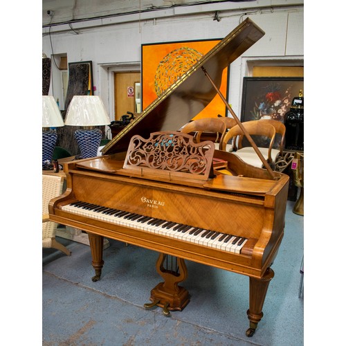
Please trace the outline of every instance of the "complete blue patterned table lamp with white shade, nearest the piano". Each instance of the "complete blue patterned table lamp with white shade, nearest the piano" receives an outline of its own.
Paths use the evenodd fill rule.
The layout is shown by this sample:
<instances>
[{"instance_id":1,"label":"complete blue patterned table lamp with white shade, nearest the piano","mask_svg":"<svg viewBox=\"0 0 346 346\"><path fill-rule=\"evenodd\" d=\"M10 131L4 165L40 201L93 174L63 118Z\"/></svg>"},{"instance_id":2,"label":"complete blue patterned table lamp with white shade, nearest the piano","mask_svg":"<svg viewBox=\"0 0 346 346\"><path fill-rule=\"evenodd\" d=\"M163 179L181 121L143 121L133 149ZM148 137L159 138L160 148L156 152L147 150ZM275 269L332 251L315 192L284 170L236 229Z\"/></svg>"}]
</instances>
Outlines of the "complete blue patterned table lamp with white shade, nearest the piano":
<instances>
[{"instance_id":1,"label":"complete blue patterned table lamp with white shade, nearest the piano","mask_svg":"<svg viewBox=\"0 0 346 346\"><path fill-rule=\"evenodd\" d=\"M73 96L66 112L65 125L80 126L75 139L80 148L78 158L98 155L102 131L95 126L109 125L111 120L99 96Z\"/></svg>"}]
</instances>

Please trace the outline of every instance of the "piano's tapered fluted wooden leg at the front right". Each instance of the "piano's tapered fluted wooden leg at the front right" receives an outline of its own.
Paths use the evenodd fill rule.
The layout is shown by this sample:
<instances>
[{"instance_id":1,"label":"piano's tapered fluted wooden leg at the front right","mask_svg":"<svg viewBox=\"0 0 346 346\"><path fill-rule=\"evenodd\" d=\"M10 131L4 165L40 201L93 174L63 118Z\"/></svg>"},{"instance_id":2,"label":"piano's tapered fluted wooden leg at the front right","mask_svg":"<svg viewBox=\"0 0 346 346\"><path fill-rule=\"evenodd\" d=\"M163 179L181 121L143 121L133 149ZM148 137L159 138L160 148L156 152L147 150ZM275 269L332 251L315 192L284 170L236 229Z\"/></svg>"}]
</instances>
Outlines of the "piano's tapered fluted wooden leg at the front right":
<instances>
[{"instance_id":1,"label":"piano's tapered fluted wooden leg at the front right","mask_svg":"<svg viewBox=\"0 0 346 346\"><path fill-rule=\"evenodd\" d=\"M269 282L274 277L274 271L271 268L266 270L262 279L250 277L250 309L248 309L248 319L250 320L250 328L246 331L246 336L253 336L257 328L258 322L263 317L263 304L266 299L266 291L268 290Z\"/></svg>"}]
</instances>

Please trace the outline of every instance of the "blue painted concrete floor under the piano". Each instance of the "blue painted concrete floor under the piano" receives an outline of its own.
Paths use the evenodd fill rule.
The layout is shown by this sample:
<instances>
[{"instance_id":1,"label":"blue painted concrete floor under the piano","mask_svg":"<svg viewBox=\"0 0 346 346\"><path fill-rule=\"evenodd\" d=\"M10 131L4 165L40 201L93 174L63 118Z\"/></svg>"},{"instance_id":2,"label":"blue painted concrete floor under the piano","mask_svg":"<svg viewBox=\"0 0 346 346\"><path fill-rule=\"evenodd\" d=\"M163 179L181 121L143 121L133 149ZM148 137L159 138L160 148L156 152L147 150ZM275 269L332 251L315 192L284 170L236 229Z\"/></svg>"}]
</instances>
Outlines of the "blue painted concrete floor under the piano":
<instances>
[{"instance_id":1,"label":"blue painted concrete floor under the piano","mask_svg":"<svg viewBox=\"0 0 346 346\"><path fill-rule=\"evenodd\" d=\"M57 238L66 256L43 249L43 345L303 345L304 291L298 298L304 251L304 217L288 201L286 227L272 266L264 316L252 338L248 328L248 277L186 261L190 293L170 318L147 310L150 290L162 281L157 253L110 240L102 280L92 282L89 246Z\"/></svg>"}]
</instances>

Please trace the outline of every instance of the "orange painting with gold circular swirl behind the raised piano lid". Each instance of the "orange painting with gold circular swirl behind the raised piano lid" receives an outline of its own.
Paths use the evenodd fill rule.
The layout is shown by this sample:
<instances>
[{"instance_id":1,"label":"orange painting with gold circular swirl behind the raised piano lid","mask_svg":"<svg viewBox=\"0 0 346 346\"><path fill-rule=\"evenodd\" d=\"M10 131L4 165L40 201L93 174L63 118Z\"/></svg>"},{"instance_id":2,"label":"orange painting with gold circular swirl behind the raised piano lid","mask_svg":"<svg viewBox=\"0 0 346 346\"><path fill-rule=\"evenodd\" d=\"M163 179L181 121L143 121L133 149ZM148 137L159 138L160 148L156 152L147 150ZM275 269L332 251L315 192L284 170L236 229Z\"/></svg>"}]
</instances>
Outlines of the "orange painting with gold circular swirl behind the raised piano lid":
<instances>
[{"instance_id":1,"label":"orange painting with gold circular swirl behind the raised piano lid","mask_svg":"<svg viewBox=\"0 0 346 346\"><path fill-rule=\"evenodd\" d=\"M197 61L214 48L220 39L142 44L142 110L154 102ZM222 73L221 93L228 98L228 67ZM226 115L219 95L194 119Z\"/></svg>"}]
</instances>

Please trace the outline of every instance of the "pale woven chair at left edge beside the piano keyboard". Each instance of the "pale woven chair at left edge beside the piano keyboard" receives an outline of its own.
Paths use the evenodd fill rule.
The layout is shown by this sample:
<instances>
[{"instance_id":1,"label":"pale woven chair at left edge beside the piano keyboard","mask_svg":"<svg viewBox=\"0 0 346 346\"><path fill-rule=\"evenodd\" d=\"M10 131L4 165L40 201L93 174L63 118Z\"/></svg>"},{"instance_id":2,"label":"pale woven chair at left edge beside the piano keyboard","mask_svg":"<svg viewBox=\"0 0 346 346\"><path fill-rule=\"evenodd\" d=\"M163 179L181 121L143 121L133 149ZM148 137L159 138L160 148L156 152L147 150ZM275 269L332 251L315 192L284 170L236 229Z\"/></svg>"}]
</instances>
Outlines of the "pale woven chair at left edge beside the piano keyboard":
<instances>
[{"instance_id":1,"label":"pale woven chair at left edge beside the piano keyboard","mask_svg":"<svg viewBox=\"0 0 346 346\"><path fill-rule=\"evenodd\" d=\"M66 255L71 255L64 245L55 239L55 222L49 221L48 204L54 197L62 194L64 178L62 176L51 176L42 174L42 247L56 248Z\"/></svg>"}]
</instances>

